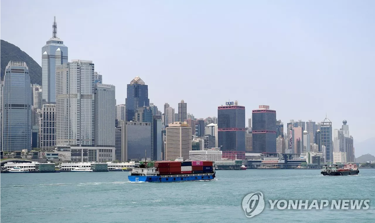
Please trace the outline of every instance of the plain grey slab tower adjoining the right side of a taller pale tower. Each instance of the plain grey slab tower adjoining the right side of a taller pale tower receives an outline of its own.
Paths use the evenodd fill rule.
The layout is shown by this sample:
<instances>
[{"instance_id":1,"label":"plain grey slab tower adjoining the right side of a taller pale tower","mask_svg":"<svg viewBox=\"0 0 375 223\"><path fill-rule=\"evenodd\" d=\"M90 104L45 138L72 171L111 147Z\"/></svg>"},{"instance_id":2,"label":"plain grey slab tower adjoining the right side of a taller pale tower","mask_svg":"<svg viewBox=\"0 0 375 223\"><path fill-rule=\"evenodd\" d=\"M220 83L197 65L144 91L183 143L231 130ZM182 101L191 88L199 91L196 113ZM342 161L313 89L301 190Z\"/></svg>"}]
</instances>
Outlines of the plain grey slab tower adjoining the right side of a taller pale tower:
<instances>
[{"instance_id":1,"label":"plain grey slab tower adjoining the right side of a taller pale tower","mask_svg":"<svg viewBox=\"0 0 375 223\"><path fill-rule=\"evenodd\" d=\"M95 84L95 146L115 147L115 86Z\"/></svg>"}]
</instances>

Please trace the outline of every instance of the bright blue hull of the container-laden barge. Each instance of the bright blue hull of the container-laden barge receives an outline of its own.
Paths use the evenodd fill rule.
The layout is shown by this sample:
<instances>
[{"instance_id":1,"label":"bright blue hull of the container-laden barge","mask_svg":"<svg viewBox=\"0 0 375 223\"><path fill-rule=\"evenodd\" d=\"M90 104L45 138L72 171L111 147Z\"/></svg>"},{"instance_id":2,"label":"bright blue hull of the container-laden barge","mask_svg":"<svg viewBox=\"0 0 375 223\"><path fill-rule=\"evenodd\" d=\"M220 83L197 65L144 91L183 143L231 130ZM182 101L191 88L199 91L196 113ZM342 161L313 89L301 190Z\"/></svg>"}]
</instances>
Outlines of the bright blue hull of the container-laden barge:
<instances>
[{"instance_id":1,"label":"bright blue hull of the container-laden barge","mask_svg":"<svg viewBox=\"0 0 375 223\"><path fill-rule=\"evenodd\" d=\"M172 177L168 175L162 176L136 176L130 175L127 177L132 182L175 182L175 181L190 181L190 180L213 180L215 178L215 172L209 174L189 174L180 177Z\"/></svg>"}]
</instances>

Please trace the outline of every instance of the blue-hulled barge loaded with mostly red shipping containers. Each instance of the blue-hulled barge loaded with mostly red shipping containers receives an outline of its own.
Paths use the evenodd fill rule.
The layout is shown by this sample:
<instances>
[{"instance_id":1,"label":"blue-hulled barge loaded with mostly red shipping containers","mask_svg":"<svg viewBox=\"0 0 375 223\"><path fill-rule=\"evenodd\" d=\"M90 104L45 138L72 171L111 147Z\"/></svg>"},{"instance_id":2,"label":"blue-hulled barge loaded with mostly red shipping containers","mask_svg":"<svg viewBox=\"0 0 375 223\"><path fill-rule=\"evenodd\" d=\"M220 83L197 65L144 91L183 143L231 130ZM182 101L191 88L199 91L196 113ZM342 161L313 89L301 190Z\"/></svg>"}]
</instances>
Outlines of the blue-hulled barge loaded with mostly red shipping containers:
<instances>
[{"instance_id":1,"label":"blue-hulled barge loaded with mostly red shipping containers","mask_svg":"<svg viewBox=\"0 0 375 223\"><path fill-rule=\"evenodd\" d=\"M212 161L140 162L128 176L132 182L174 182L214 178Z\"/></svg>"}]
</instances>

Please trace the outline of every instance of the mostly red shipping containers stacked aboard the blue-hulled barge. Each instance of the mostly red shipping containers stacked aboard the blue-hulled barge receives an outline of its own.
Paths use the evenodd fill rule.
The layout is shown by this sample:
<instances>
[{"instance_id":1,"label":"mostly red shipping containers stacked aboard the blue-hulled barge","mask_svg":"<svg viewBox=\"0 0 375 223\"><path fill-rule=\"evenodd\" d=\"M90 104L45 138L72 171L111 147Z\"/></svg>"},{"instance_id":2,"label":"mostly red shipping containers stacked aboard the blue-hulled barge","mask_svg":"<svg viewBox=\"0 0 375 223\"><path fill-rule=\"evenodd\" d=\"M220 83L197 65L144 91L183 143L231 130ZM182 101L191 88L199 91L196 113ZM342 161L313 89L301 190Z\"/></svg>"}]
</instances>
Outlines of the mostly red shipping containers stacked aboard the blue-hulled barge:
<instances>
[{"instance_id":1,"label":"mostly red shipping containers stacked aboard the blue-hulled barge","mask_svg":"<svg viewBox=\"0 0 375 223\"><path fill-rule=\"evenodd\" d=\"M145 167L156 167L159 175L202 174L213 172L212 161L157 161L142 162Z\"/></svg>"}]
</instances>

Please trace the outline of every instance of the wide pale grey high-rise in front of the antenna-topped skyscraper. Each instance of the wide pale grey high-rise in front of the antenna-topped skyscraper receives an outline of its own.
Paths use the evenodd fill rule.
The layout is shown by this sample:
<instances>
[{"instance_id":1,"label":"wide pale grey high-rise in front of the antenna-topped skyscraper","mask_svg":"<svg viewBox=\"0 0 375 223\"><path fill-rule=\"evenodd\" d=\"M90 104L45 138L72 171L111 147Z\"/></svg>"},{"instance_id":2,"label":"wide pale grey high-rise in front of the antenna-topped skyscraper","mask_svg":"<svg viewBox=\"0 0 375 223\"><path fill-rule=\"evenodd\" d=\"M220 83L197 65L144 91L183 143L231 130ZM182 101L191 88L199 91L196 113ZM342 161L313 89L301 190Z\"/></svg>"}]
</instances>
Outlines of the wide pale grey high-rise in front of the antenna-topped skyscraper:
<instances>
[{"instance_id":1,"label":"wide pale grey high-rise in front of the antenna-topped skyscraper","mask_svg":"<svg viewBox=\"0 0 375 223\"><path fill-rule=\"evenodd\" d=\"M72 60L56 67L56 144L95 143L95 83L92 61Z\"/></svg>"}]
</instances>

